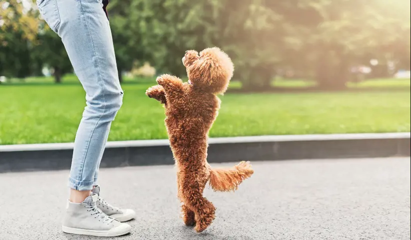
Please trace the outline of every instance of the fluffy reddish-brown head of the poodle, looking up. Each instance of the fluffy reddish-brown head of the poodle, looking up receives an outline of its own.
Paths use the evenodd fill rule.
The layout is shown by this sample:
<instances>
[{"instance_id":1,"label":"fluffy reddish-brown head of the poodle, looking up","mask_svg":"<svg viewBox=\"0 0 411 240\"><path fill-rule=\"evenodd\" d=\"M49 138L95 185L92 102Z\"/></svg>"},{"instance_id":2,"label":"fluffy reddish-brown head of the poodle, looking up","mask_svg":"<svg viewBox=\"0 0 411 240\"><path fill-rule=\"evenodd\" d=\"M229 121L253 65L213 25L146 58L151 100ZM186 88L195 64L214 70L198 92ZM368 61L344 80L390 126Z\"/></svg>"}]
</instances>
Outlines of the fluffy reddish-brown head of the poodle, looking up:
<instances>
[{"instance_id":1,"label":"fluffy reddish-brown head of the poodle, looking up","mask_svg":"<svg viewBox=\"0 0 411 240\"><path fill-rule=\"evenodd\" d=\"M191 84L214 94L227 90L234 71L230 57L218 47L206 48L200 54L195 50L186 51L183 64Z\"/></svg>"}]
</instances>

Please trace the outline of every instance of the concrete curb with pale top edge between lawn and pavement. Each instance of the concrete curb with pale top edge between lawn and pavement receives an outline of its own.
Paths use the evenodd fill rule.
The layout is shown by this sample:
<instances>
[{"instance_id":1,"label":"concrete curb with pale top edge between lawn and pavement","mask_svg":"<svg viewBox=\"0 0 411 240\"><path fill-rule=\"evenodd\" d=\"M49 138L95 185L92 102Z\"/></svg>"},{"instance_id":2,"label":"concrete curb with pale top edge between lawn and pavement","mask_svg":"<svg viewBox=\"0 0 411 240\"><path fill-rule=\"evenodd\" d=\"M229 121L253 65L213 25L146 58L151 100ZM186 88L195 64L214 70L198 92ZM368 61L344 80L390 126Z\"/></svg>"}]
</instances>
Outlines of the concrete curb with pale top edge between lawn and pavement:
<instances>
[{"instance_id":1,"label":"concrete curb with pale top edge between lawn and pavement","mask_svg":"<svg viewBox=\"0 0 411 240\"><path fill-rule=\"evenodd\" d=\"M209 139L208 161L410 156L410 132ZM73 143L0 145L0 172L69 169ZM101 167L173 164L166 139L107 143Z\"/></svg>"}]
</instances>

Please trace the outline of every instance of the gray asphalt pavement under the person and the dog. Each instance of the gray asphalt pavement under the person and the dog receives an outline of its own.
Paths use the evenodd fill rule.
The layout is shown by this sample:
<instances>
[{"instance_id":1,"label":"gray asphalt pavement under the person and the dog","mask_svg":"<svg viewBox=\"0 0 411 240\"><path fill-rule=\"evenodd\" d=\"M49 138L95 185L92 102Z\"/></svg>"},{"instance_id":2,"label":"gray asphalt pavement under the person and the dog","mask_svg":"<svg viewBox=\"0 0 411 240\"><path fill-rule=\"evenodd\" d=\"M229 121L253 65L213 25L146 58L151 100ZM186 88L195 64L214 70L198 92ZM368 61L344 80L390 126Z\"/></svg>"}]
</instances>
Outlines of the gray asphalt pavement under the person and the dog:
<instances>
[{"instance_id":1,"label":"gray asphalt pavement under the person and the dog","mask_svg":"<svg viewBox=\"0 0 411 240\"><path fill-rule=\"evenodd\" d=\"M179 218L173 166L102 169L106 200L138 214L116 239L410 239L409 157L253 166L237 192L205 192L217 217L200 234ZM100 239L61 231L68 173L0 174L0 239Z\"/></svg>"}]
</instances>

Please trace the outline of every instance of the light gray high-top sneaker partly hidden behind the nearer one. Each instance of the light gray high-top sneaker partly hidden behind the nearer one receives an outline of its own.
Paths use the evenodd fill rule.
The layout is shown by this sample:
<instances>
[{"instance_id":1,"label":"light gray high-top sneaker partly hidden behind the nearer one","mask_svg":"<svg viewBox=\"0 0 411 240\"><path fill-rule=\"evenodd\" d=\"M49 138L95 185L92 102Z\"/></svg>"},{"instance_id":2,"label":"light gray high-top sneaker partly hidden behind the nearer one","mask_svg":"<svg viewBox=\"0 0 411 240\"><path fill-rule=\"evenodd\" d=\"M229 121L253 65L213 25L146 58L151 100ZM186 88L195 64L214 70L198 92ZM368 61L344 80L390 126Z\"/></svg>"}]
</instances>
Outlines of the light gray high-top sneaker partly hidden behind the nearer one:
<instances>
[{"instance_id":1,"label":"light gray high-top sneaker partly hidden behind the nearer one","mask_svg":"<svg viewBox=\"0 0 411 240\"><path fill-rule=\"evenodd\" d=\"M97 194L97 207L107 215L116 218L118 221L128 221L136 217L136 212L132 209L120 209L115 207L100 196L100 186L97 185L93 189L93 194Z\"/></svg>"}]
</instances>

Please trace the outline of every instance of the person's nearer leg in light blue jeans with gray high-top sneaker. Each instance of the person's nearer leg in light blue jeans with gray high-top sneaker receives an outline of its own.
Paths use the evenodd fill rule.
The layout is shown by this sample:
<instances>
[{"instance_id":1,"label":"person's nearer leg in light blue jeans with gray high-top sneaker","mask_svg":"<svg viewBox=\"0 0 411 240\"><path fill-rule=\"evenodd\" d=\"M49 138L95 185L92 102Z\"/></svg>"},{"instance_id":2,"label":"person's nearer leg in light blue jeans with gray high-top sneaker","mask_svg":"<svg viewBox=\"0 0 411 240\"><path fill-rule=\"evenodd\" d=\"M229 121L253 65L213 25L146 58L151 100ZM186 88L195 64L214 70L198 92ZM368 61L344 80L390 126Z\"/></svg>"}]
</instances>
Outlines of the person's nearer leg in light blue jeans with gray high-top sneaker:
<instances>
[{"instance_id":1,"label":"person's nearer leg in light blue jeans with gray high-top sneaker","mask_svg":"<svg viewBox=\"0 0 411 240\"><path fill-rule=\"evenodd\" d=\"M101 0L37 0L49 26L62 38L85 91L87 106L77 131L63 219L64 232L117 236L128 224L109 217L91 194L110 125L119 110L121 89L110 26ZM47 47L47 46L46 46Z\"/></svg>"}]
</instances>

